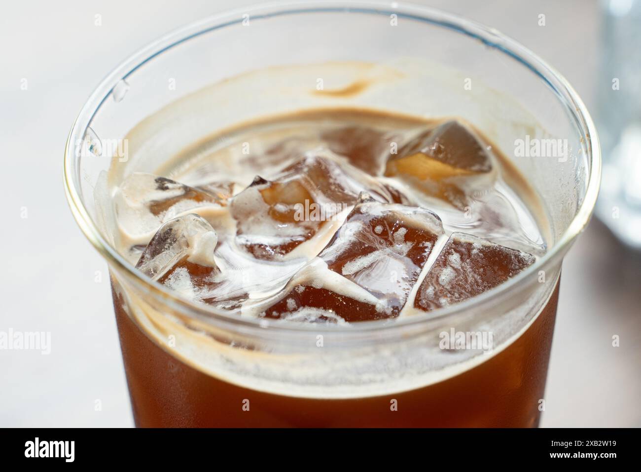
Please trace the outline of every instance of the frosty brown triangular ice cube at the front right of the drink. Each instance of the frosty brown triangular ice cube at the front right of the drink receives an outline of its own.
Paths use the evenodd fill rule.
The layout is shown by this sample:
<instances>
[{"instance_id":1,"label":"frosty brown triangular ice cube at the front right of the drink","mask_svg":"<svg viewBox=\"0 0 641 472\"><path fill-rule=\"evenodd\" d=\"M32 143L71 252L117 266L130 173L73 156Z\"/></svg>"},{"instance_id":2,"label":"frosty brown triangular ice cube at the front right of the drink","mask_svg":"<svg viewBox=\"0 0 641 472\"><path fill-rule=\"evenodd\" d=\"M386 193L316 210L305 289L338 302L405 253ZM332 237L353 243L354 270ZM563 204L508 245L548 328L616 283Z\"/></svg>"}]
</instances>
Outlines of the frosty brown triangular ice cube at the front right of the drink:
<instances>
[{"instance_id":1,"label":"frosty brown triangular ice cube at the front right of the drink","mask_svg":"<svg viewBox=\"0 0 641 472\"><path fill-rule=\"evenodd\" d=\"M420 284L414 306L429 311L467 300L505 282L535 260L527 252L454 232Z\"/></svg>"}]
</instances>

